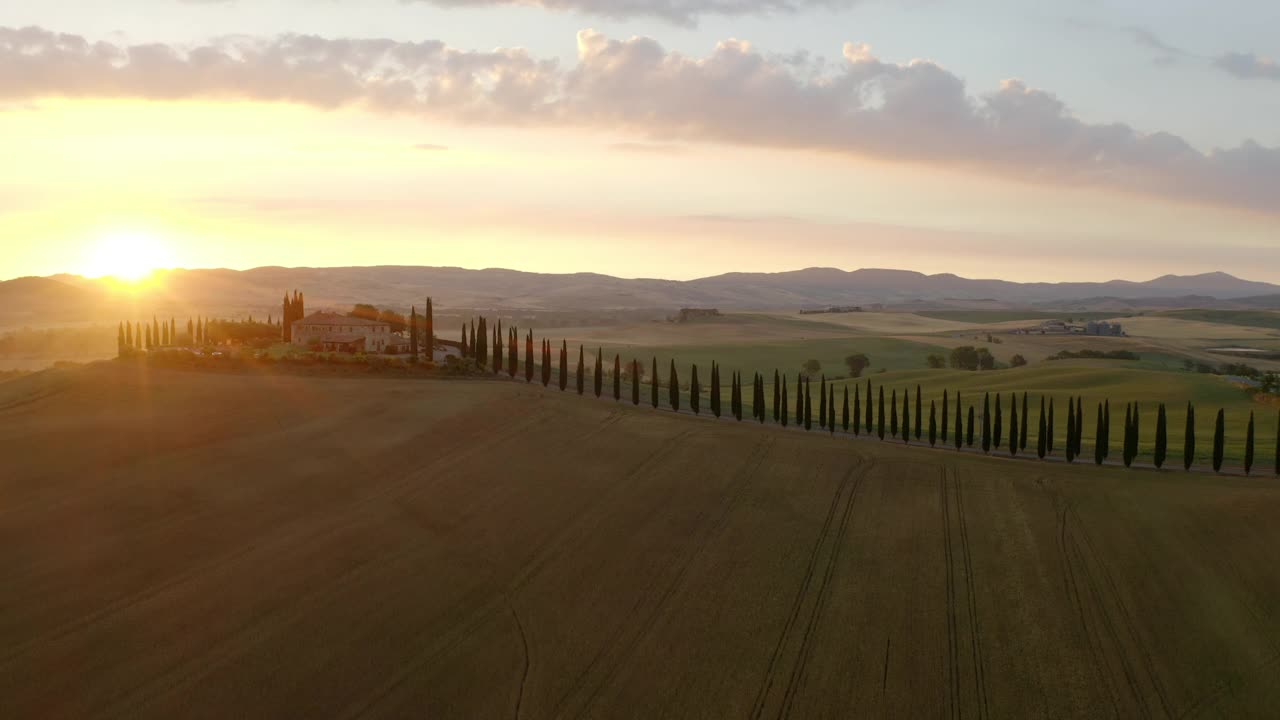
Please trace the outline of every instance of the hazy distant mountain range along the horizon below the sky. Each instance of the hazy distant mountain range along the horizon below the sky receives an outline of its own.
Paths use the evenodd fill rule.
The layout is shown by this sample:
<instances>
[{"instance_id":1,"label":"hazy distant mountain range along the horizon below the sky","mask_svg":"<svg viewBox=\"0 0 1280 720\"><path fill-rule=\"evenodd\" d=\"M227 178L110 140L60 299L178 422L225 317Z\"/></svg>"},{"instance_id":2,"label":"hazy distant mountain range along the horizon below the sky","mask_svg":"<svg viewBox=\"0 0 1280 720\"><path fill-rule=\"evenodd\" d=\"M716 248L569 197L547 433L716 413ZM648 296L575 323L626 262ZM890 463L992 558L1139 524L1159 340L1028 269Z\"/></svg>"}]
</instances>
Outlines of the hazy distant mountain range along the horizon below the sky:
<instances>
[{"instance_id":1,"label":"hazy distant mountain range along the horizon below the sky","mask_svg":"<svg viewBox=\"0 0 1280 720\"><path fill-rule=\"evenodd\" d=\"M197 269L160 272L147 290L122 292L110 281L79 275L17 278L0 283L0 324L116 318L140 307L164 313L266 314L285 290L301 288L308 306L356 302L406 307L431 295L438 307L520 310L635 310L710 306L803 309L884 304L908 307L1061 309L1274 307L1280 286L1225 273L1164 275L1152 281L1019 283L927 275L909 270L806 268L781 273L726 273L692 281L616 278L595 273L544 274L509 269L429 266Z\"/></svg>"}]
</instances>

